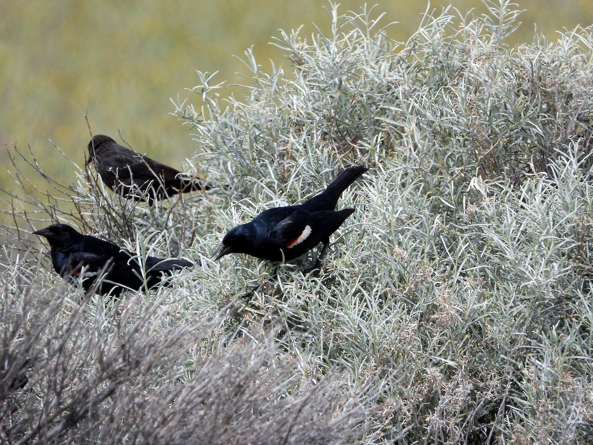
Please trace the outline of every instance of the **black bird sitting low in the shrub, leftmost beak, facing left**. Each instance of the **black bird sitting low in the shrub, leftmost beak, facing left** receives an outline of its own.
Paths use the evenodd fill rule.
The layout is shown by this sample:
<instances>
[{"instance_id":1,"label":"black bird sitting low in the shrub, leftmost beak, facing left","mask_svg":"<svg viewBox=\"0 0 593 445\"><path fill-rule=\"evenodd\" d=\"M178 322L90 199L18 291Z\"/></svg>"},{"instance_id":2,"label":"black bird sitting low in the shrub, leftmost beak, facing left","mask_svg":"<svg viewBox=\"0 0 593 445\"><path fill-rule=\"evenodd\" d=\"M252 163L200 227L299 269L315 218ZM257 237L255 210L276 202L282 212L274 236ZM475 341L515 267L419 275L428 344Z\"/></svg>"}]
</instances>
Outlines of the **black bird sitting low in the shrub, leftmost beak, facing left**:
<instances>
[{"instance_id":1,"label":"black bird sitting low in the shrub, leftmost beak, facing left","mask_svg":"<svg viewBox=\"0 0 593 445\"><path fill-rule=\"evenodd\" d=\"M93 288L101 295L119 296L126 289L144 290L145 285L151 288L172 271L193 266L192 262L183 259L147 256L144 281L139 259L109 241L82 235L68 224L52 224L33 234L49 241L53 268L62 278L72 284L82 279L85 291ZM103 281L95 282L97 277Z\"/></svg>"}]
</instances>

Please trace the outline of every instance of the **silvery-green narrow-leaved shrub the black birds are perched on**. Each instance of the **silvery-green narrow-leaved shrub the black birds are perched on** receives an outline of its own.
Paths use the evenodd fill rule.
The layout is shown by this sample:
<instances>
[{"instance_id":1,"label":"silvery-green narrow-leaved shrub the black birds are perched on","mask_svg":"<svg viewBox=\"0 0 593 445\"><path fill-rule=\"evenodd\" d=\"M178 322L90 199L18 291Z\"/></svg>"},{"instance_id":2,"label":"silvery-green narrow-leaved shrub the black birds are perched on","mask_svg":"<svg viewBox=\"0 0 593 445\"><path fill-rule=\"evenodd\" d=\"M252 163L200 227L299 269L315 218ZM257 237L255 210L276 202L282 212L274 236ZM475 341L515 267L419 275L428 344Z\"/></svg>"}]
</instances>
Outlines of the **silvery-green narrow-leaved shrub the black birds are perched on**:
<instances>
[{"instance_id":1,"label":"silvery-green narrow-leaved shrub the black birds are perched on","mask_svg":"<svg viewBox=\"0 0 593 445\"><path fill-rule=\"evenodd\" d=\"M139 255L179 254L201 262L170 290L146 297L170 312L146 309L139 324L117 315L139 307L142 297L130 295L101 319L108 325L117 319L122 329L145 323L150 329L140 330L149 345L155 335L179 338L176 345L183 347L171 351L166 340L154 343L165 351L164 362L148 354L150 365L139 363L152 379L142 391L148 400L153 393L170 400L169 408L146 403L129 422L106 424L115 430L101 430L108 427L85 411L84 422L56 441L96 437L98 431L109 431L101 433L108 437L117 428L130 442L146 441L131 431L160 418L171 429L208 428L200 422L210 403L221 419L237 420L215 422L208 431L237 443L261 438L224 430L263 418L247 408L250 403L265 406L273 421L257 426L276 434L269 443L591 440L593 36L590 28L579 28L557 42L536 36L509 47L505 39L518 26L519 11L507 1L485 3L483 17L455 16L451 9L426 14L407 42L391 40L373 11L339 14L331 5L330 35L281 33L276 44L286 50L285 66L266 72L246 53L250 84L241 98L222 101L213 75L198 72L200 85L192 91L203 104L178 103L176 113L193 126L200 146L190 169L207 173L218 190L148 207L112 196L88 171L79 170L76 185L43 190L42 198L17 179L19 192L8 203L15 224L5 224L6 233L24 238L23 229L39 228L49 214L112 241L123 238ZM302 274L298 264L269 278L270 266L253 258L209 259L228 228L270 206L310 197L351 164L373 170L344 193L339 206L356 212L332 237L318 278ZM23 190L37 213L18 208ZM62 203L71 196L75 206L66 212ZM28 246L36 258L39 246ZM7 270L51 282L59 291L46 293L49 301L66 295L69 308L79 307L79 291L27 264L16 250L7 252ZM241 298L264 280L256 294ZM14 279L4 282L11 298L42 293ZM56 320L64 310L54 312ZM190 341L183 337L196 320L211 319L216 329L202 328ZM94 326L82 320L81 326ZM101 332L87 329L81 341ZM17 339L35 330L14 332L4 335L7 357L18 355ZM217 354L204 355L212 342ZM211 386L212 397L232 392L237 383L225 380L227 354L254 354L261 364L261 378L239 374L255 383L245 408L229 412L232 403L225 398L221 405L208 398L202 408L184 405L191 400L177 398L178 391L189 387L194 397L192 391L206 390L195 389L195 374L215 376L209 380L218 385ZM60 366L68 368L71 360L65 355ZM86 360L89 369L98 365L92 356ZM279 370L289 386L262 384L266 367ZM179 374L171 379L173 368ZM17 403L11 406L21 408L25 402L18 400L25 400L31 410L5 410L12 424L20 425L50 397L37 372L31 365L31 383L11 393ZM325 373L323 384L308 386ZM82 374L81 368L66 386L76 387ZM302 390L291 386L299 379ZM337 399L326 406L324 395L332 390ZM32 400L27 391L43 397ZM128 412L126 403L136 394L115 394L93 413L113 406ZM270 398L277 405L266 405ZM282 430L286 412L295 417ZM320 430L311 430L310 422ZM248 431L256 434L257 428ZM314 437L299 436L307 431ZM3 434L11 437L10 430ZM191 435L178 440L199 441Z\"/></svg>"}]
</instances>

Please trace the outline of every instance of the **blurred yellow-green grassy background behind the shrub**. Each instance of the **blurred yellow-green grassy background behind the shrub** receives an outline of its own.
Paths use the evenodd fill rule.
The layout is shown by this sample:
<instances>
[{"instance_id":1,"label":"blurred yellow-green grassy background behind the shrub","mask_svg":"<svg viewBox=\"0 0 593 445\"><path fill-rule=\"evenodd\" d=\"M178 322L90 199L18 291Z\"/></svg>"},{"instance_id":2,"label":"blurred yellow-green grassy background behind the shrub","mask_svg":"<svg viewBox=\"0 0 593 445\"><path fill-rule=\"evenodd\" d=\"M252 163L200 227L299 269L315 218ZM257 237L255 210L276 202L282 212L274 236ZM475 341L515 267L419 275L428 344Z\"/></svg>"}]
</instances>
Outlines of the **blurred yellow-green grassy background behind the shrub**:
<instances>
[{"instance_id":1,"label":"blurred yellow-green grassy background behind the shrub","mask_svg":"<svg viewBox=\"0 0 593 445\"><path fill-rule=\"evenodd\" d=\"M465 11L477 1L433 1ZM359 11L364 2L342 2L342 11ZM369 5L372 5L369 4ZM391 37L406 40L416 30L423 2L378 1L377 11ZM290 63L269 45L278 29L303 25L302 35L314 31L323 19L326 2L0 2L0 187L11 189L7 150L12 144L31 149L46 173L58 182L71 183L74 173L62 169L50 140L77 163L82 163L90 134L107 134L120 141L118 131L137 151L173 166L191 158L196 145L189 127L181 127L170 98L200 98L185 88L197 84L195 70L219 71L216 81L248 84L236 72L244 71L235 57L253 46L259 63L272 59L278 66ZM556 30L593 22L590 1L529 0L512 43L531 41L537 30L555 40ZM327 31L321 28L321 31ZM222 96L240 95L227 86Z\"/></svg>"}]
</instances>

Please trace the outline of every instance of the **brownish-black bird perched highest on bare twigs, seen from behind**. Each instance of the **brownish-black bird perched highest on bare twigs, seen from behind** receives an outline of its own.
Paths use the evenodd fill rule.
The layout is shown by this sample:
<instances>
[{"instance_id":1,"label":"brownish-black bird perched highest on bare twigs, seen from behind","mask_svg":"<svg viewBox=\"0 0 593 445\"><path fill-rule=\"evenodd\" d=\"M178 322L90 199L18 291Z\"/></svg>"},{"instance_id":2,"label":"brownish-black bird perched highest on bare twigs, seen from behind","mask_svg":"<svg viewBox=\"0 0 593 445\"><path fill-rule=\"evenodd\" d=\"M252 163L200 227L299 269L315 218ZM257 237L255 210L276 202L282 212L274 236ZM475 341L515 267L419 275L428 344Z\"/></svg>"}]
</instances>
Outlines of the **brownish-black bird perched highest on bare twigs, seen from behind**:
<instances>
[{"instance_id":1,"label":"brownish-black bird perched highest on bare twigs, seen from behind","mask_svg":"<svg viewBox=\"0 0 593 445\"><path fill-rule=\"evenodd\" d=\"M209 190L195 177L117 144L109 136L96 135L88 143L87 166L93 162L103 182L128 199L164 199L192 190Z\"/></svg>"}]
</instances>

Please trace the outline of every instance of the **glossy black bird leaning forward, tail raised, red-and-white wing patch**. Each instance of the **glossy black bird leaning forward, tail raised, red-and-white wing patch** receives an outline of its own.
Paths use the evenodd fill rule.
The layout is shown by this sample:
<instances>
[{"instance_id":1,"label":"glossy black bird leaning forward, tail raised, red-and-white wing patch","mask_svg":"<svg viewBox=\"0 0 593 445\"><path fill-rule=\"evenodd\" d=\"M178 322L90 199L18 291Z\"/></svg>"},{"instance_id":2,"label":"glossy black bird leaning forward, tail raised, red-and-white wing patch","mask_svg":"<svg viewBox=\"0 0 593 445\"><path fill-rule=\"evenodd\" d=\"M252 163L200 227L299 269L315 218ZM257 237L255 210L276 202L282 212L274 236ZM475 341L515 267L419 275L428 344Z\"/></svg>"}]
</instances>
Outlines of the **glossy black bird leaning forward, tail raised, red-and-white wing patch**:
<instances>
[{"instance_id":1,"label":"glossy black bird leaning forward, tail raised, red-and-white wing patch","mask_svg":"<svg viewBox=\"0 0 593 445\"><path fill-rule=\"evenodd\" d=\"M367 170L362 166L346 169L323 192L303 204L268 209L251 222L232 228L216 249L214 259L229 253L247 253L271 262L289 261L323 243L312 268L318 269L330 235L354 212L336 211L337 200Z\"/></svg>"}]
</instances>

